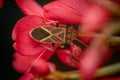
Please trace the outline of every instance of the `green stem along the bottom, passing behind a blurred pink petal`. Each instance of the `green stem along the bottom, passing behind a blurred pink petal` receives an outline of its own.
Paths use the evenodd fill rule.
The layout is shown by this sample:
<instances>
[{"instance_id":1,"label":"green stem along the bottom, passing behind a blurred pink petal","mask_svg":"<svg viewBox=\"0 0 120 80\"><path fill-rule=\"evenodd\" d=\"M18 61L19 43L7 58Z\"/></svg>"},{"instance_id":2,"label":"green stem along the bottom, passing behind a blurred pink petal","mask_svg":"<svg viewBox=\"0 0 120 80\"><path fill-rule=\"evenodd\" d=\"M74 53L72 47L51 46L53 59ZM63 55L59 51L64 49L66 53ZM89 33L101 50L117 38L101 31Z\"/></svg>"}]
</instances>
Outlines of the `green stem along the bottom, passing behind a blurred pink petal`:
<instances>
[{"instance_id":1,"label":"green stem along the bottom, passing behind a blurred pink petal","mask_svg":"<svg viewBox=\"0 0 120 80\"><path fill-rule=\"evenodd\" d=\"M110 76L118 72L120 72L120 63L112 64L98 69L95 73L94 78ZM72 72L55 71L48 75L47 78L50 80L82 80L82 75L79 71Z\"/></svg>"}]
</instances>

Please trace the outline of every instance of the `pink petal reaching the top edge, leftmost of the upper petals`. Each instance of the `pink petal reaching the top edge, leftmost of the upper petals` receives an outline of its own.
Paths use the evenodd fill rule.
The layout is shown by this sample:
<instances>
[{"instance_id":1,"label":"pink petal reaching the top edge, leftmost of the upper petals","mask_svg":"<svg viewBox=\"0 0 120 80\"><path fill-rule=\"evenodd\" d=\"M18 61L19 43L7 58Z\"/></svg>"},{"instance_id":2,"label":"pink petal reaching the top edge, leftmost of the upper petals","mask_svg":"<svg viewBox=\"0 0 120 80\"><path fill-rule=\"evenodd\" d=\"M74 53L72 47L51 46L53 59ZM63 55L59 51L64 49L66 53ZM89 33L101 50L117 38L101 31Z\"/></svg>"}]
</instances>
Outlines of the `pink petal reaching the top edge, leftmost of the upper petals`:
<instances>
[{"instance_id":1,"label":"pink petal reaching the top edge, leftmost of the upper petals","mask_svg":"<svg viewBox=\"0 0 120 80\"><path fill-rule=\"evenodd\" d=\"M16 0L16 3L25 15L43 17L43 9L35 0Z\"/></svg>"}]
</instances>

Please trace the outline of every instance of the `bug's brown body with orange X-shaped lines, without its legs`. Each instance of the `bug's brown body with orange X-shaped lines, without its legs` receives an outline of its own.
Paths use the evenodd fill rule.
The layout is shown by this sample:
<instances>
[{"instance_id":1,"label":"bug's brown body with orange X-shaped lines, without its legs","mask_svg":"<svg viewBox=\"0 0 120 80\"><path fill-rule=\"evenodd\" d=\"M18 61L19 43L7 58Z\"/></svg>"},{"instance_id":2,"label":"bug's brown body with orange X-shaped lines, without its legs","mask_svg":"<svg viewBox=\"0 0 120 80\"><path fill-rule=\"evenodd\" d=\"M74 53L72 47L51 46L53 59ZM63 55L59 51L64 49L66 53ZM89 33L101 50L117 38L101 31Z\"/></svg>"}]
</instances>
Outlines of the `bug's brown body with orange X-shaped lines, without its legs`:
<instances>
[{"instance_id":1,"label":"bug's brown body with orange X-shaped lines, without its legs","mask_svg":"<svg viewBox=\"0 0 120 80\"><path fill-rule=\"evenodd\" d=\"M41 43L65 44L75 39L76 32L72 28L41 26L31 30L30 35Z\"/></svg>"}]
</instances>

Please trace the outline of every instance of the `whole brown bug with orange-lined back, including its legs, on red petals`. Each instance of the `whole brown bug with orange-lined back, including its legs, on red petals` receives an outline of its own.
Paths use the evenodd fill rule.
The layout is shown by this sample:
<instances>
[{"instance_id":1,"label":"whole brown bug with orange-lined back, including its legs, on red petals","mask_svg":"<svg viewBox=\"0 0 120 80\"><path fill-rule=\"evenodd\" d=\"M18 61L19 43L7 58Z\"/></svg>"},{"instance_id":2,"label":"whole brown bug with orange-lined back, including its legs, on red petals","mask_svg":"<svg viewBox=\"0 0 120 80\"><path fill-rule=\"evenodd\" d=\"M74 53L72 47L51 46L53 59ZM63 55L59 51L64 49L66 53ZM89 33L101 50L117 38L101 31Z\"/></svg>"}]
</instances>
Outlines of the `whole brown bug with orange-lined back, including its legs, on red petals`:
<instances>
[{"instance_id":1,"label":"whole brown bug with orange-lined back, including its legs, on red petals","mask_svg":"<svg viewBox=\"0 0 120 80\"><path fill-rule=\"evenodd\" d=\"M77 31L68 25L39 26L30 31L30 37L37 42L47 44L59 44L60 48L66 48L71 44L76 44L81 48L85 48L86 44L77 39ZM44 47L46 47L44 45Z\"/></svg>"}]
</instances>

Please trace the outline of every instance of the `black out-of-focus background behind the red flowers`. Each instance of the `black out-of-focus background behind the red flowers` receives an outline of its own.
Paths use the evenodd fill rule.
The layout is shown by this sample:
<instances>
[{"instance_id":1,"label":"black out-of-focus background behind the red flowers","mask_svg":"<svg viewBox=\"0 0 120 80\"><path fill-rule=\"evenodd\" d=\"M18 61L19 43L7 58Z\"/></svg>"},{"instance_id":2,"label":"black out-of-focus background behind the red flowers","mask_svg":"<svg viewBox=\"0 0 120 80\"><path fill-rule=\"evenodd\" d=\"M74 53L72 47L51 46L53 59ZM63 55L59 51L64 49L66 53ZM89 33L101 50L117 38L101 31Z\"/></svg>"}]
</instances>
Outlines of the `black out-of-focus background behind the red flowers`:
<instances>
[{"instance_id":1,"label":"black out-of-focus background behind the red flowers","mask_svg":"<svg viewBox=\"0 0 120 80\"><path fill-rule=\"evenodd\" d=\"M40 4L48 3L51 0L37 0ZM24 15L16 5L14 0L5 0L3 8L0 9L0 80L18 80L21 74L12 68L14 50L12 48L12 29L20 18ZM120 54L113 55L109 63L118 62ZM59 63L55 56L51 61L56 61L58 69L71 69ZM62 67L61 67L62 66Z\"/></svg>"}]
</instances>

